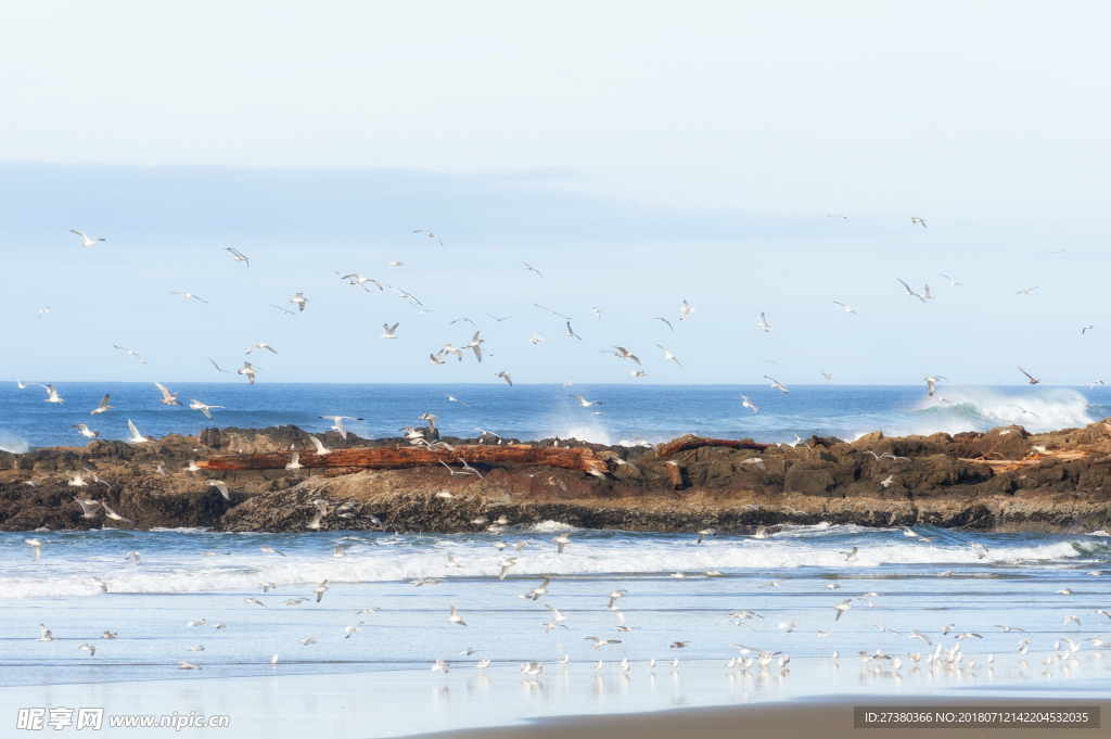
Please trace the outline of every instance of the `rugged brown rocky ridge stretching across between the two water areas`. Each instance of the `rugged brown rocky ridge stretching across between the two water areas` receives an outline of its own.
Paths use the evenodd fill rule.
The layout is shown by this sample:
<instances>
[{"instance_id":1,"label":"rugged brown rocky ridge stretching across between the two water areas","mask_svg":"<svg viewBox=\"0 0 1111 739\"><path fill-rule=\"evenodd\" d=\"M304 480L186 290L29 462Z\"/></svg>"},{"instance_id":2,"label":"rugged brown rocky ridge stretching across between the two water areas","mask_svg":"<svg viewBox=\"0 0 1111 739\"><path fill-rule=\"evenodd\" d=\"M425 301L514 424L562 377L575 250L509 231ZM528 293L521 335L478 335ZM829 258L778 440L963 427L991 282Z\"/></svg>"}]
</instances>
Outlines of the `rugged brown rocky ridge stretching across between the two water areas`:
<instances>
[{"instance_id":1,"label":"rugged brown rocky ridge stretching across between the two water areas","mask_svg":"<svg viewBox=\"0 0 1111 739\"><path fill-rule=\"evenodd\" d=\"M324 443L332 449L408 446L403 439L351 433L344 440L334 432ZM655 532L751 533L759 526L821 521L981 531L1111 528L1111 419L1040 435L1020 426L905 438L877 431L853 442L815 437L763 451L707 446L669 458L643 447L560 443L594 450L610 461L610 471L600 478L551 467L477 465L480 478L444 467L186 469L190 460L210 456L310 448L309 435L289 426L206 429L139 446L98 440L83 448L0 452L0 530L107 526L298 532L309 530L317 511L312 501L321 499L329 510L320 521L324 531L377 529L381 521L402 532L478 532L486 525L473 521L501 516L512 525L556 520ZM748 461L755 459L760 462ZM71 485L74 472L81 472L84 486ZM230 500L208 486L209 479L223 480ZM83 518L74 497L104 501L131 522L107 520L102 509Z\"/></svg>"}]
</instances>

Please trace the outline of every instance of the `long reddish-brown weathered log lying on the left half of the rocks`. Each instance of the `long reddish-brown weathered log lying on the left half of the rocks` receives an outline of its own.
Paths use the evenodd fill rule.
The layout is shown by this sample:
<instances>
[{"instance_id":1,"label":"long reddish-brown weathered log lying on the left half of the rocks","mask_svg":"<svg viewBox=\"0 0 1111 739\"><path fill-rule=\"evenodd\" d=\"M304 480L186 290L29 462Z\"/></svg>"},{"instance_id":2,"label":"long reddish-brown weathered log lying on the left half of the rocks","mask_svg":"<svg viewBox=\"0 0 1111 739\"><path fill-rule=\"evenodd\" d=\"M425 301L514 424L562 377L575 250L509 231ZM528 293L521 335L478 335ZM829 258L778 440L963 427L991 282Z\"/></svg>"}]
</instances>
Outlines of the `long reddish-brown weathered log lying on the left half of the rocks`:
<instances>
[{"instance_id":1,"label":"long reddish-brown weathered log lying on the left half of the rocks","mask_svg":"<svg viewBox=\"0 0 1111 739\"><path fill-rule=\"evenodd\" d=\"M363 470L393 470L409 467L439 465L459 466L459 458L469 465L532 465L559 467L591 475L605 471L605 462L591 449L568 449L563 447L534 447L530 445L468 445L431 451L421 447L397 447L388 449L337 449L328 455L318 455L308 449L298 451L300 463L311 468L357 468ZM293 451L271 451L257 455L220 455L210 457L197 466L209 470L277 470L284 469L292 459Z\"/></svg>"}]
</instances>

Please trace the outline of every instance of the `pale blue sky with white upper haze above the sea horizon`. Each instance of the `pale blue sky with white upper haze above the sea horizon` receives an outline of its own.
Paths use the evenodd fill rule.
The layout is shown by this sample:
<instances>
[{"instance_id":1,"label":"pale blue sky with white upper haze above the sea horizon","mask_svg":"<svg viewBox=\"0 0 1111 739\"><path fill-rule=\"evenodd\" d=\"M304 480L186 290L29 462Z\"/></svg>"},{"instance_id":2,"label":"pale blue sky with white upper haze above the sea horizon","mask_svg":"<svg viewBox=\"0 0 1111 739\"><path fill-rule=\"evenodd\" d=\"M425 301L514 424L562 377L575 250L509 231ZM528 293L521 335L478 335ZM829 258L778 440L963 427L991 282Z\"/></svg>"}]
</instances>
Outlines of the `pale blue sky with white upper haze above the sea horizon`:
<instances>
[{"instance_id":1,"label":"pale blue sky with white upper haze above the sea horizon","mask_svg":"<svg viewBox=\"0 0 1111 739\"><path fill-rule=\"evenodd\" d=\"M209 357L266 342L272 382L1017 385L1021 364L1087 387L1111 332L1109 21L1094 2L9 3L0 371L214 380ZM303 312L272 307L297 292ZM493 356L431 364L471 340L460 318Z\"/></svg>"}]
</instances>

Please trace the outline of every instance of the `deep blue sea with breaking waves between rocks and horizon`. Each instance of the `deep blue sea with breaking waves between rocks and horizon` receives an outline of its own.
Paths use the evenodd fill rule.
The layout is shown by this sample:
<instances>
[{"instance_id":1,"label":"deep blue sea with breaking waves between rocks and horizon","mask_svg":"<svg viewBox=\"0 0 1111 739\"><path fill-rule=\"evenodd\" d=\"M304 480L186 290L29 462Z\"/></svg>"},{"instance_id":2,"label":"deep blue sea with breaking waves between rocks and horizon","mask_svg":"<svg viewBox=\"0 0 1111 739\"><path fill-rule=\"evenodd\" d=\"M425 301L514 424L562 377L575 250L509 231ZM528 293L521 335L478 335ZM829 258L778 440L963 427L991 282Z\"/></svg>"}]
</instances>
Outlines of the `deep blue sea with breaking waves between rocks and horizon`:
<instances>
[{"instance_id":1,"label":"deep blue sea with breaking waves between rocks and horizon","mask_svg":"<svg viewBox=\"0 0 1111 739\"><path fill-rule=\"evenodd\" d=\"M0 385L0 449L83 446L70 428L87 423L102 439L127 439L128 420L146 436L194 435L207 427L266 428L293 425L323 432L330 421L320 416L353 416L348 427L364 438L399 436L417 417L440 417L446 436L468 438L483 428L522 441L559 436L598 443L630 443L634 437L667 441L684 433L758 441L793 441L794 433L835 436L852 440L882 430L888 436L987 430L1022 423L1030 431L1082 427L1111 416L1111 390L1097 387L939 386L932 398L924 386L794 386L790 393L768 386L629 386L629 385L329 385L297 383L253 387L244 381L170 382L184 407L159 402L153 383L59 382L62 403L44 402L43 388L20 390ZM114 410L90 416L106 393ZM444 393L462 402L451 402ZM583 408L571 395L599 400ZM759 413L742 407L749 397ZM210 421L188 408L194 398L213 410ZM942 398L948 401L943 402ZM466 406L463 405L466 403ZM591 411L601 413L591 415ZM1028 412L1023 412L1028 411Z\"/></svg>"}]
</instances>

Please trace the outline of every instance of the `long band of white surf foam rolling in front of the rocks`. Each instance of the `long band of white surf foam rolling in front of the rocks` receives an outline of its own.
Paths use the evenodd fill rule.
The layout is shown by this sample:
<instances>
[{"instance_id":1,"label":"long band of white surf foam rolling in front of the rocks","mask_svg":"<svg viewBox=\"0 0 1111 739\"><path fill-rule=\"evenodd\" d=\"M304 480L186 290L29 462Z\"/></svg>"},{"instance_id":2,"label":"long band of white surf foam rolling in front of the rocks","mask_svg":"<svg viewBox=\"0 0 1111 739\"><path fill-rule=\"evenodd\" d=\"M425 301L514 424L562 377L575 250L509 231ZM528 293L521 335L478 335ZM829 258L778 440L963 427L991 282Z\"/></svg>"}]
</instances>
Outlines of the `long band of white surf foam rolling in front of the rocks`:
<instances>
[{"instance_id":1,"label":"long band of white surf foam rolling in front of the rocks","mask_svg":"<svg viewBox=\"0 0 1111 739\"><path fill-rule=\"evenodd\" d=\"M550 522L553 527L562 527ZM543 525L541 525L543 526ZM570 527L568 527L570 528ZM800 527L801 528L801 527ZM843 527L848 528L848 527ZM550 530L565 530L552 528ZM784 540L785 539L785 540ZM441 545L442 546L442 545ZM1068 541L1029 547L993 547L984 560L963 546L921 545L895 541L862 547L859 561L847 563L838 550L850 543L819 543L784 537L780 541L742 541L708 539L702 545L675 545L673 541L628 542L590 541L568 546L562 555L553 548L527 549L512 568L514 577L573 576L623 573L653 576L675 571L697 572L708 569L752 575L757 571L791 568L829 568L839 573L855 569L881 568L888 565L987 565L992 562L1060 565L1062 560L1082 557ZM60 596L98 596L100 589L92 577L103 578L111 592L172 593L217 590L254 590L262 581L276 582L284 595L316 587L322 580L332 585L351 582L384 582L411 580L418 577L483 577L497 578L501 568L498 555L489 542L452 542L451 550L461 567L446 570L447 548L414 548L410 542L398 545L352 546L348 556L333 559L319 551L311 553L287 549L288 558L260 557L253 552L232 553L219 560L207 560L197 568L197 552L178 555L168 566L147 561L141 569L121 566L117 560L71 562L67 575L0 579L0 598L49 598ZM40 568L41 569L41 568ZM24 570L26 571L26 570ZM893 570L905 571L905 570ZM436 586L427 586L434 588ZM303 593L302 593L303 595Z\"/></svg>"}]
</instances>

